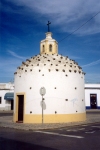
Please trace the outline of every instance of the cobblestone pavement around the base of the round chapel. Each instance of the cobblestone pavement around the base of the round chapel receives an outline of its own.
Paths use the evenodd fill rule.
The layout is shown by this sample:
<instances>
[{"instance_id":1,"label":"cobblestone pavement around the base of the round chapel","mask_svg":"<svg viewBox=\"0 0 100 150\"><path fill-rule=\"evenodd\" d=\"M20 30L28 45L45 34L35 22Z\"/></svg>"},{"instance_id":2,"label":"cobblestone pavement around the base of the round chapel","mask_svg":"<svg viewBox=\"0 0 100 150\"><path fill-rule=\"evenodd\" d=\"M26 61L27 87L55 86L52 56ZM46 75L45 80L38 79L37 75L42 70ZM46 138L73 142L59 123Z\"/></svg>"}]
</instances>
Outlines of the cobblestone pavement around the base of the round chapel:
<instances>
[{"instance_id":1,"label":"cobblestone pavement around the base of the round chapel","mask_svg":"<svg viewBox=\"0 0 100 150\"><path fill-rule=\"evenodd\" d=\"M91 113L92 112L92 113ZM0 111L0 113L2 113ZM9 113L9 112L8 112ZM23 124L23 123L14 123L12 121L12 116L1 116L0 117L0 127L8 127L21 130L39 130L39 129L53 129L61 128L66 126L74 126L81 124L89 124L94 122L100 122L100 110L88 110L87 119L84 122L70 122L70 123L48 123L48 124Z\"/></svg>"}]
</instances>

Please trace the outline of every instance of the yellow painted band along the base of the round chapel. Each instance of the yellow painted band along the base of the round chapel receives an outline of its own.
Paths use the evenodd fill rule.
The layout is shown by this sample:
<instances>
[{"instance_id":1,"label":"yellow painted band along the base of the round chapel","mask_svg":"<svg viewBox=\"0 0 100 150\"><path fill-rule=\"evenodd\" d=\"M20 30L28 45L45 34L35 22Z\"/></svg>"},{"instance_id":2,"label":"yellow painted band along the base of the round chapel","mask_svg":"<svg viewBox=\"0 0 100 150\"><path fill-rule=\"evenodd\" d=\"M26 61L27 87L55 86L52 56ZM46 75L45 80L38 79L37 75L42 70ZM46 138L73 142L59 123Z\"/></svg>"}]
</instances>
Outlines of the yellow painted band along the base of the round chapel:
<instances>
[{"instance_id":1,"label":"yellow painted band along the base of the round chapel","mask_svg":"<svg viewBox=\"0 0 100 150\"><path fill-rule=\"evenodd\" d=\"M44 115L44 123L67 123L86 120L86 113ZM42 115L25 114L24 123L42 123Z\"/></svg>"}]
</instances>

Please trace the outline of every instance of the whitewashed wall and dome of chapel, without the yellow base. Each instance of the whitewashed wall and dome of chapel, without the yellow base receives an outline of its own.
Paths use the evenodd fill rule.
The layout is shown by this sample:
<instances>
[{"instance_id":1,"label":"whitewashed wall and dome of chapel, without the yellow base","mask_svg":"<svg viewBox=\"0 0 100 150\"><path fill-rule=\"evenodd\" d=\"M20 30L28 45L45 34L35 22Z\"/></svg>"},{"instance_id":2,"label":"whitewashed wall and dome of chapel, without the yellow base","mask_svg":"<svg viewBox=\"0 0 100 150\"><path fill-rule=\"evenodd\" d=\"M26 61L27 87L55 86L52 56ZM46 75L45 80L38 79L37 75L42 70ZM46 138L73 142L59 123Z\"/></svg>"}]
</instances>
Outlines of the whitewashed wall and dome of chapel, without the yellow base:
<instances>
[{"instance_id":1,"label":"whitewashed wall and dome of chapel, without the yellow base","mask_svg":"<svg viewBox=\"0 0 100 150\"><path fill-rule=\"evenodd\" d=\"M47 58L44 59L43 56ZM38 55L34 60L31 58L30 62L26 61L26 64L20 66L15 73L15 95L21 92L26 93L26 114L30 114L30 111L33 114L41 114L42 98L39 93L41 87L46 88L44 114L54 114L55 111L57 114L85 112L84 74L82 70L79 73L80 69L69 58L66 60L63 57L61 63L58 63L60 57L61 55ZM72 63L72 67L69 66L70 63ZM65 64L66 66L64 66ZM63 69L65 72L62 71ZM39 72L39 70L41 71ZM75 73L74 70L77 72Z\"/></svg>"}]
</instances>

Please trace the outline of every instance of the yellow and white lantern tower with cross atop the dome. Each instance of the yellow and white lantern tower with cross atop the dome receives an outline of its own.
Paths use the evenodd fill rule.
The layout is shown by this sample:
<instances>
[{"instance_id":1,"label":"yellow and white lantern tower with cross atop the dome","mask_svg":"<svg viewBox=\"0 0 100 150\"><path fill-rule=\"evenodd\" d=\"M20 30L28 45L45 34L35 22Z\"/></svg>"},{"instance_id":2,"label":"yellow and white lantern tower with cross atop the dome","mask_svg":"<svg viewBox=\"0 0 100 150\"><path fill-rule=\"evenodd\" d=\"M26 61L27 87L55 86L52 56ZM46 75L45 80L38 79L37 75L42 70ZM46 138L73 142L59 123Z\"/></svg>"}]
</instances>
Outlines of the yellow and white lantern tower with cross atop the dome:
<instances>
[{"instance_id":1,"label":"yellow and white lantern tower with cross atop the dome","mask_svg":"<svg viewBox=\"0 0 100 150\"><path fill-rule=\"evenodd\" d=\"M40 42L40 54L58 54L58 42L55 39L52 39L52 33L49 28L50 24L51 23L48 21L46 38Z\"/></svg>"}]
</instances>

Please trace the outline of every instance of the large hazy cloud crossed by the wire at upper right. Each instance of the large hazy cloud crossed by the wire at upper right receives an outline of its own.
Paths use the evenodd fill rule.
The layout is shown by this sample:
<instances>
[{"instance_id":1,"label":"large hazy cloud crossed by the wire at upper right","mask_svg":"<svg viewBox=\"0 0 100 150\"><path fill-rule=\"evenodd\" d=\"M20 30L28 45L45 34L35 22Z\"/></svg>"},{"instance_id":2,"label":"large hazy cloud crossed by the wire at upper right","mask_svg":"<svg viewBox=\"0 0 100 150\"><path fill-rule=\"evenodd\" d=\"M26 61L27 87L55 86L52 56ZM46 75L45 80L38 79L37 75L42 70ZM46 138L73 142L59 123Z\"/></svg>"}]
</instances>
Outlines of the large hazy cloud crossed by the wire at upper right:
<instances>
[{"instance_id":1,"label":"large hazy cloud crossed by the wire at upper right","mask_svg":"<svg viewBox=\"0 0 100 150\"><path fill-rule=\"evenodd\" d=\"M16 5L25 6L36 14L50 20L54 26L58 26L61 32L73 32L84 24L92 16L100 11L100 0L9 0ZM44 24L44 18L37 21ZM95 34L100 32L100 14L88 22L75 34Z\"/></svg>"}]
</instances>

